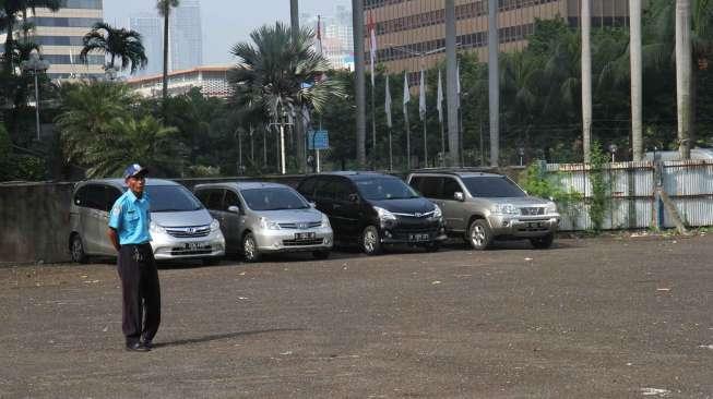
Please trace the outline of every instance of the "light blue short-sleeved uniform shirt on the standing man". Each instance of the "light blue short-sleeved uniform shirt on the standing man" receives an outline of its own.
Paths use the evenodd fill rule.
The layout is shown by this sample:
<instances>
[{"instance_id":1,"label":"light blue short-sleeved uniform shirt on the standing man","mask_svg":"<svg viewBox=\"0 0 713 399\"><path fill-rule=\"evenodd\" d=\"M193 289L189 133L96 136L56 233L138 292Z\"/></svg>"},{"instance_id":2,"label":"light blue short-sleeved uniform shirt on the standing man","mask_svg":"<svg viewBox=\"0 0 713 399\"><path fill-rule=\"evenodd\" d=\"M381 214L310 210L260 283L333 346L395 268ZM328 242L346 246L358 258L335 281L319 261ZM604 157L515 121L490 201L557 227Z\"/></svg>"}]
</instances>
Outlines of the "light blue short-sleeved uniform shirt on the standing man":
<instances>
[{"instance_id":1,"label":"light blue short-sleeved uniform shirt on the standing man","mask_svg":"<svg viewBox=\"0 0 713 399\"><path fill-rule=\"evenodd\" d=\"M143 244L151 241L148 226L151 198L144 191L141 198L136 198L131 190L127 190L111 207L109 227L119 234L119 244Z\"/></svg>"}]
</instances>

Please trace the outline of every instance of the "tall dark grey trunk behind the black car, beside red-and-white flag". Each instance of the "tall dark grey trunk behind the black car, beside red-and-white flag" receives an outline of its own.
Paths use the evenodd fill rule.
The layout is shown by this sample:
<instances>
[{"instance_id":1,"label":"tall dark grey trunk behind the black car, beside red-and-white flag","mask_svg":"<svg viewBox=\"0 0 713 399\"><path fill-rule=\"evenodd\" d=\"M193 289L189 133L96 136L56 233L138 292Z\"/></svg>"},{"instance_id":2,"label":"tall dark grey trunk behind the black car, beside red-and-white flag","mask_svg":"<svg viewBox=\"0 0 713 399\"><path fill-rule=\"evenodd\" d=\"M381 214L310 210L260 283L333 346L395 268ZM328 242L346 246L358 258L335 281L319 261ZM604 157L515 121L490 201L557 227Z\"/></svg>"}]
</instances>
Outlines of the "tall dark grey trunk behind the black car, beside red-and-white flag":
<instances>
[{"instance_id":1,"label":"tall dark grey trunk behind the black car, beside red-and-white flag","mask_svg":"<svg viewBox=\"0 0 713 399\"><path fill-rule=\"evenodd\" d=\"M366 136L366 90L364 75L364 0L352 0L352 21L354 27L354 72L356 77L356 133L357 133L357 162L364 169L367 164Z\"/></svg>"}]
</instances>

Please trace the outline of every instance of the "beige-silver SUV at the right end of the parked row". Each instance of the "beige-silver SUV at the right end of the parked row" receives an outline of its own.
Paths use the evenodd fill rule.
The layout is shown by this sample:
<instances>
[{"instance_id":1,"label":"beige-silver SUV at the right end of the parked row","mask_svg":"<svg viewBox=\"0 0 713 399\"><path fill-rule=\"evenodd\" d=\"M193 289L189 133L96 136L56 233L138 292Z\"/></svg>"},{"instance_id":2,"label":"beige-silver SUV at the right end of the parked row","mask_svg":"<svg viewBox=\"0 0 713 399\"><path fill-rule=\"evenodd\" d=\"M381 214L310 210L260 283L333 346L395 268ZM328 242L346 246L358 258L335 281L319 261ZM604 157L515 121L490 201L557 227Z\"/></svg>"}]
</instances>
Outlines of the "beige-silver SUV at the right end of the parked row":
<instances>
[{"instance_id":1,"label":"beige-silver SUV at the right end of the parked row","mask_svg":"<svg viewBox=\"0 0 713 399\"><path fill-rule=\"evenodd\" d=\"M530 239L536 249L555 240L560 216L554 202L528 196L508 177L468 171L424 171L408 184L438 204L449 235L464 237L475 250L495 239Z\"/></svg>"}]
</instances>

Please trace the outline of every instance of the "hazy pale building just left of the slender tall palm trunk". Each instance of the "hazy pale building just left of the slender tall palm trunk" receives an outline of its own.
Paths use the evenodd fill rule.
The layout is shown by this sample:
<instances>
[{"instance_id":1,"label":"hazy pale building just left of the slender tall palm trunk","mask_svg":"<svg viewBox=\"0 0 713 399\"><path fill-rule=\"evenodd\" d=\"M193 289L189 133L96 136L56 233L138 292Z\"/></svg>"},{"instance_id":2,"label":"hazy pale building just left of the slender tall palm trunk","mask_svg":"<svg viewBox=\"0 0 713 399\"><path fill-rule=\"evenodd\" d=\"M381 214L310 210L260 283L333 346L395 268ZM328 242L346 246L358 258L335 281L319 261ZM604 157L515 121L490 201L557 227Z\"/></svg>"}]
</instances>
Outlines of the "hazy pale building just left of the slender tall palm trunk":
<instances>
[{"instance_id":1,"label":"hazy pale building just left of the slender tall palm trunk","mask_svg":"<svg viewBox=\"0 0 713 399\"><path fill-rule=\"evenodd\" d=\"M164 20L155 14L136 14L129 19L129 28L141 34L144 52L148 59L146 68L136 75L162 73L164 68Z\"/></svg>"}]
</instances>

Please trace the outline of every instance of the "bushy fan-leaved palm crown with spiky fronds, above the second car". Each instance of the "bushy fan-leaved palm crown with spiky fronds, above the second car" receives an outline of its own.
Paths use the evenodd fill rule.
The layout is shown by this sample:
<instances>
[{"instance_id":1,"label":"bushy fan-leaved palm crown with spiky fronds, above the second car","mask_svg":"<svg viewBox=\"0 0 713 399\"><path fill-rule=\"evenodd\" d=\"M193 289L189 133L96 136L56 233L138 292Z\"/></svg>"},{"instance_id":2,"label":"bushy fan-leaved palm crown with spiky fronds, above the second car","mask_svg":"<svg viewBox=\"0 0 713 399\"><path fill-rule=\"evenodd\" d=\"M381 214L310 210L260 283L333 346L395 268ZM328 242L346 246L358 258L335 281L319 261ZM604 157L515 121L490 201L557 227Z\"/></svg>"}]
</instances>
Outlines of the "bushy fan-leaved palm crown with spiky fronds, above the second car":
<instances>
[{"instance_id":1,"label":"bushy fan-leaved palm crown with spiky fronds, above the second car","mask_svg":"<svg viewBox=\"0 0 713 399\"><path fill-rule=\"evenodd\" d=\"M311 48L313 36L302 28L294 40L290 27L277 22L253 31L252 44L235 45L238 64L229 80L236 104L264 122L285 122L302 107L321 113L332 96L344 96L341 81L324 77L329 62Z\"/></svg>"}]
</instances>

